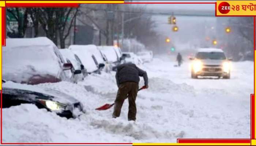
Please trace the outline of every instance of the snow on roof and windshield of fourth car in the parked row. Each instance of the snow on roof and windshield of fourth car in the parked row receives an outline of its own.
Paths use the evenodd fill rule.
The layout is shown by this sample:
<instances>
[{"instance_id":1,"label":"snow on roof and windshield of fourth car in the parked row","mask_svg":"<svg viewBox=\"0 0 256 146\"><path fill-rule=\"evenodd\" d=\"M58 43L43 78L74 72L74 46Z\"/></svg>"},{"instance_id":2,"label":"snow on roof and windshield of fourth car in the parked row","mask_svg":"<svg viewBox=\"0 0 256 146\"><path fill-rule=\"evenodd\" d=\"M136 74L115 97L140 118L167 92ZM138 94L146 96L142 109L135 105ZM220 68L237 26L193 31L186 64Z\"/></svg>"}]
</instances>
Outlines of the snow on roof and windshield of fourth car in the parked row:
<instances>
[{"instance_id":1,"label":"snow on roof and windshield of fourth car in the parked row","mask_svg":"<svg viewBox=\"0 0 256 146\"><path fill-rule=\"evenodd\" d=\"M108 61L116 62L118 61L118 54L114 50L114 46L97 46L98 49L106 55Z\"/></svg>"}]
</instances>

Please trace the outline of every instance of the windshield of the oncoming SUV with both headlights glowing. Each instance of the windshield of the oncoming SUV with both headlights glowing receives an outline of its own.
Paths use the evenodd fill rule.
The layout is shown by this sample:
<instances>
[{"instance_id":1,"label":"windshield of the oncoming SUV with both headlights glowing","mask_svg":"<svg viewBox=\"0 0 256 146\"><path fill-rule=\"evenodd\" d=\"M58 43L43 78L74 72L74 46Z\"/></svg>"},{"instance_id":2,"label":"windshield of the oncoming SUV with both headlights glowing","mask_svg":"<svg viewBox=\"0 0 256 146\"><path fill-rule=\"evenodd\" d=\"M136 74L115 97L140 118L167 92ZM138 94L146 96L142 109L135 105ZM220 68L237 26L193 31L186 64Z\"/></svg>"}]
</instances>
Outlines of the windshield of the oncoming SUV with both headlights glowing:
<instances>
[{"instance_id":1,"label":"windshield of the oncoming SUV with both headlights glowing","mask_svg":"<svg viewBox=\"0 0 256 146\"><path fill-rule=\"evenodd\" d=\"M226 59L226 56L223 52L199 52L196 55L197 59Z\"/></svg>"}]
</instances>

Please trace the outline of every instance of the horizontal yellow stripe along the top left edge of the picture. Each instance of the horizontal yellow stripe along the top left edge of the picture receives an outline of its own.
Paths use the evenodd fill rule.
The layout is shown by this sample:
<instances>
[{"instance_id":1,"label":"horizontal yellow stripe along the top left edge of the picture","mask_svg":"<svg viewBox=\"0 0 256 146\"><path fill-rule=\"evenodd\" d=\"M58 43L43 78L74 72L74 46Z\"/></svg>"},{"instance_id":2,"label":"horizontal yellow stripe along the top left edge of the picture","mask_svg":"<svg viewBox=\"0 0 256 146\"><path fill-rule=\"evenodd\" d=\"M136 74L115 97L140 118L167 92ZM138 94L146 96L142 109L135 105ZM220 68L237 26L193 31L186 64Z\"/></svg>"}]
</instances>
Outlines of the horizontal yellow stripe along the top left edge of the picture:
<instances>
[{"instance_id":1,"label":"horizontal yellow stripe along the top left edge of the picture","mask_svg":"<svg viewBox=\"0 0 256 146\"><path fill-rule=\"evenodd\" d=\"M6 1L6 3L124 3L124 1Z\"/></svg>"}]
</instances>

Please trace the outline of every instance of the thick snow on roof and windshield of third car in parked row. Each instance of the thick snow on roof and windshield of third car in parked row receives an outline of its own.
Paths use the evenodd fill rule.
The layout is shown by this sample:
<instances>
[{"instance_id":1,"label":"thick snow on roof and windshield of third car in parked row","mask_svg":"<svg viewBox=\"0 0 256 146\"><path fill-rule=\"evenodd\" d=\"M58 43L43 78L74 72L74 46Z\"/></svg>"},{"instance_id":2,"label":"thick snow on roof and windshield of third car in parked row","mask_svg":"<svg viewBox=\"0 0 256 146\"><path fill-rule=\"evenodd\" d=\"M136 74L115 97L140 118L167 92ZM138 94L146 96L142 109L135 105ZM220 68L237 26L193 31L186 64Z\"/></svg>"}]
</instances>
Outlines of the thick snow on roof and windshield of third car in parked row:
<instances>
[{"instance_id":1,"label":"thick snow on roof and windshield of third car in parked row","mask_svg":"<svg viewBox=\"0 0 256 146\"><path fill-rule=\"evenodd\" d=\"M68 47L69 50L72 50L79 57L87 71L93 72L97 70L98 67L93 60L93 53L86 48L87 45L71 45Z\"/></svg>"}]
</instances>

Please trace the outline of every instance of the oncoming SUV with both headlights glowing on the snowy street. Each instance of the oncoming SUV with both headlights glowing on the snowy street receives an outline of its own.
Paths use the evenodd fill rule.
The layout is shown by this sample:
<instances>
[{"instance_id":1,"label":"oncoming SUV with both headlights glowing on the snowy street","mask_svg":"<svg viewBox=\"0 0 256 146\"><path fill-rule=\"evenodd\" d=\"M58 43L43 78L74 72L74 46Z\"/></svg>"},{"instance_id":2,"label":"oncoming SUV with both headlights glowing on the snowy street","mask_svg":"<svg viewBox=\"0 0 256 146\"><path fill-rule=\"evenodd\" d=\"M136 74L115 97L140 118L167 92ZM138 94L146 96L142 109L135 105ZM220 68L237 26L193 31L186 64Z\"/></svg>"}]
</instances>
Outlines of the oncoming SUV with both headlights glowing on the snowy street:
<instances>
[{"instance_id":1,"label":"oncoming SUV with both headlights glowing on the snowy street","mask_svg":"<svg viewBox=\"0 0 256 146\"><path fill-rule=\"evenodd\" d=\"M228 59L221 49L202 48L199 49L195 58L190 58L191 77L217 76L218 78L230 78L231 59Z\"/></svg>"}]
</instances>

